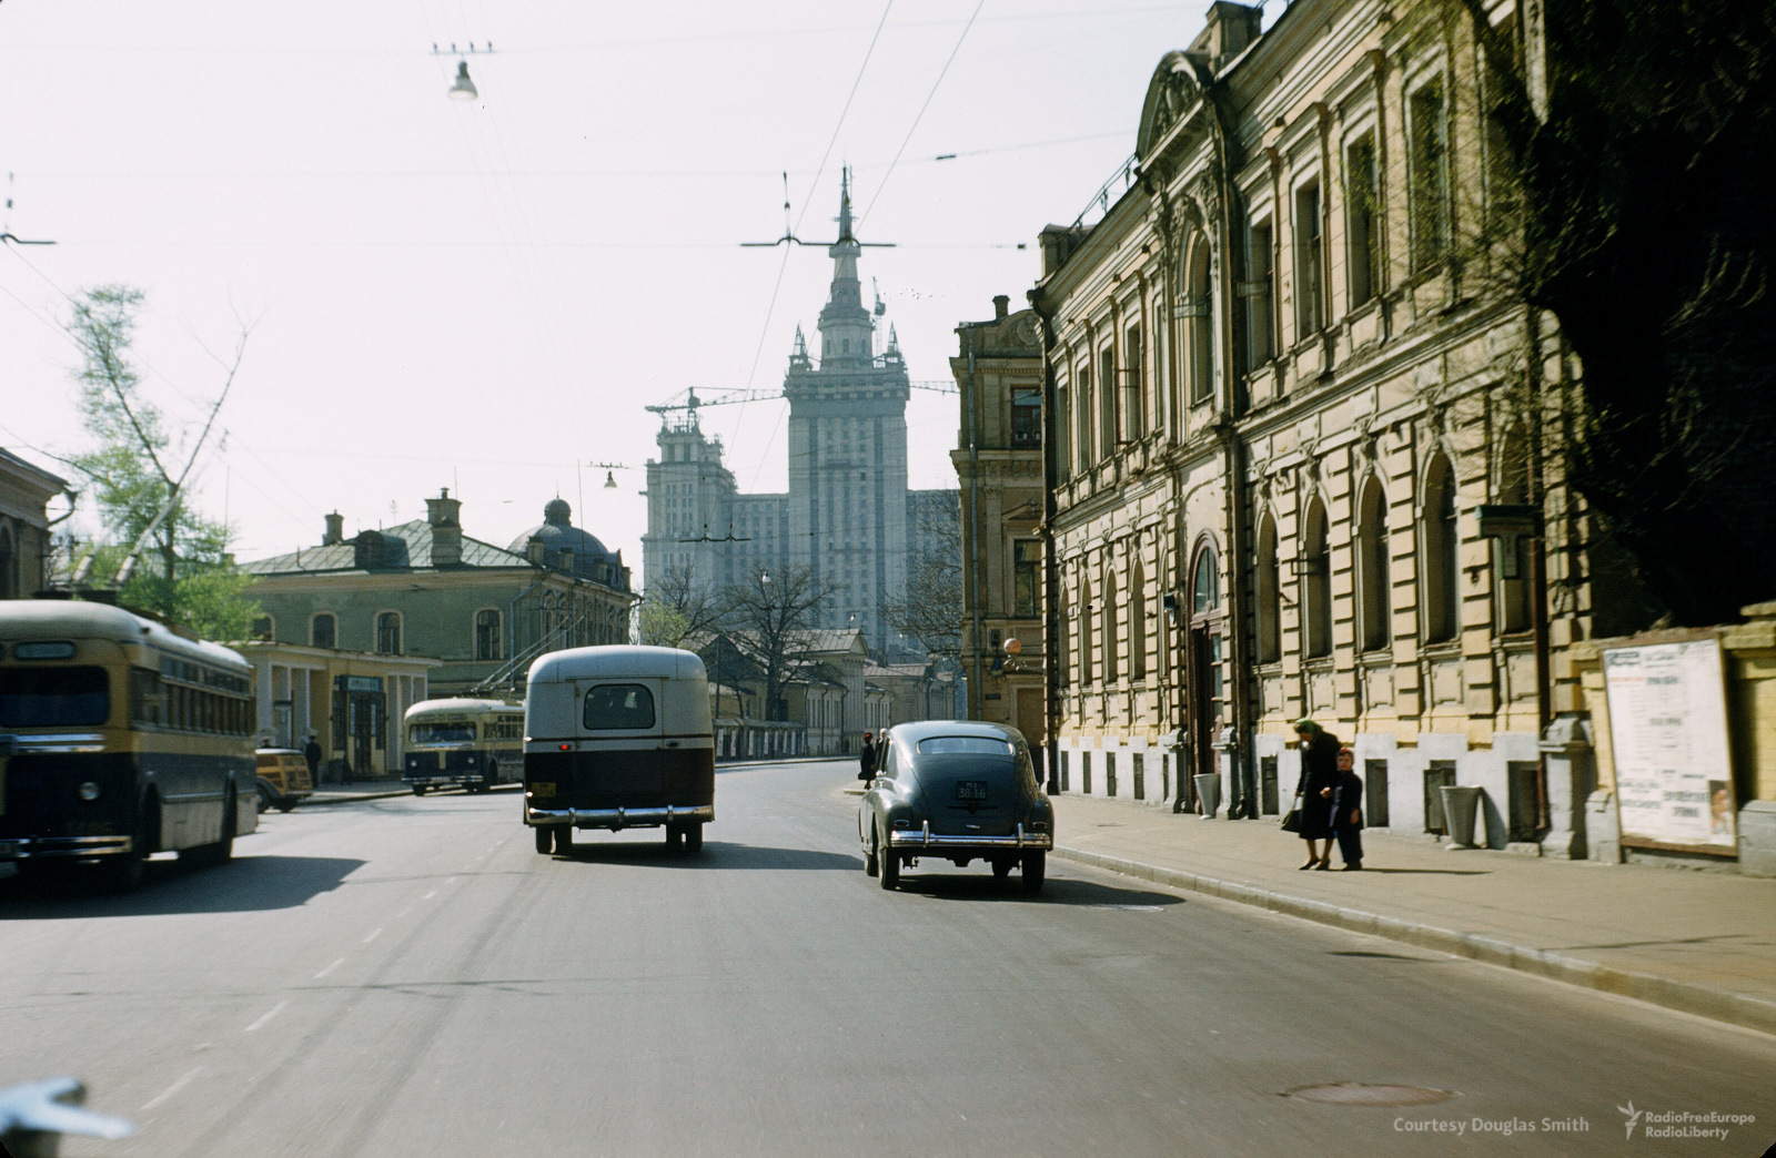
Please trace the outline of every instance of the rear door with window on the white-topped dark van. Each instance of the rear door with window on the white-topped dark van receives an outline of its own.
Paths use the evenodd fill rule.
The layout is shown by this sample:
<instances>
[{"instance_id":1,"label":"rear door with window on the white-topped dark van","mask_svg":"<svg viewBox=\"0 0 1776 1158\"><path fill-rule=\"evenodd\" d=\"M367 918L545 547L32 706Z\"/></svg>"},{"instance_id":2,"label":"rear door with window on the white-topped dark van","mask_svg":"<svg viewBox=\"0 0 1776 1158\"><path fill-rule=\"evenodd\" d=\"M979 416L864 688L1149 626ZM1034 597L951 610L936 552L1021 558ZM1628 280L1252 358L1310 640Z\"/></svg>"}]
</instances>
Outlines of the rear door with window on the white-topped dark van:
<instances>
[{"instance_id":1,"label":"rear door with window on the white-topped dark van","mask_svg":"<svg viewBox=\"0 0 1776 1158\"><path fill-rule=\"evenodd\" d=\"M645 677L575 682L581 737L574 762L575 808L659 808L668 803L662 684Z\"/></svg>"}]
</instances>

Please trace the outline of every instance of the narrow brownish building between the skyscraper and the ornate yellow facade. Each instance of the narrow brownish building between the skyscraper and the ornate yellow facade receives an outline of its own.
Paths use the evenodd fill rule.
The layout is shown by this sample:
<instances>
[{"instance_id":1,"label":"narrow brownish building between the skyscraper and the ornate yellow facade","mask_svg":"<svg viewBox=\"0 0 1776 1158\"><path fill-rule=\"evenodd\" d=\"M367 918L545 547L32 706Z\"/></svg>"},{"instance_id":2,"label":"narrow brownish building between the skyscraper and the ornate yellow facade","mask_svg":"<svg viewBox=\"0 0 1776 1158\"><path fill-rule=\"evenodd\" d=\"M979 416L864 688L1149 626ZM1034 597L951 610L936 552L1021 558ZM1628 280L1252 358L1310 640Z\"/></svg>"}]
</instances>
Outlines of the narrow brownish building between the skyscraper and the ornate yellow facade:
<instances>
[{"instance_id":1,"label":"narrow brownish building between the skyscraper and the ornate yellow facade","mask_svg":"<svg viewBox=\"0 0 1776 1158\"><path fill-rule=\"evenodd\" d=\"M1032 309L993 298L991 321L957 327L950 373L961 430L963 643L968 718L1048 742L1043 664L1043 332Z\"/></svg>"}]
</instances>

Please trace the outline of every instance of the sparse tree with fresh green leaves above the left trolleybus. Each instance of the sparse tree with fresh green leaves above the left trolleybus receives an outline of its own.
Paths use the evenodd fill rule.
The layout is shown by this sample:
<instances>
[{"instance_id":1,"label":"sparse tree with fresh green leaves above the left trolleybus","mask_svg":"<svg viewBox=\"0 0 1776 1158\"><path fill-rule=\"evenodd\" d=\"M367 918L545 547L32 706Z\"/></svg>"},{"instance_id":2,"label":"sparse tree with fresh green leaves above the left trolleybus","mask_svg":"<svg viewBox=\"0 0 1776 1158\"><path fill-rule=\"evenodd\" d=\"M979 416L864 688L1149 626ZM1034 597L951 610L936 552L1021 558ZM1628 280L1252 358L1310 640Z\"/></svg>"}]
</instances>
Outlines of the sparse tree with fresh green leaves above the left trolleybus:
<instances>
[{"instance_id":1,"label":"sparse tree with fresh green leaves above the left trolleybus","mask_svg":"<svg viewBox=\"0 0 1776 1158\"><path fill-rule=\"evenodd\" d=\"M242 639L259 615L245 597L252 575L234 567L231 527L192 508L185 485L208 442L215 416L240 369L247 329L204 426L174 439L167 416L142 394L131 359L142 291L98 286L76 302L69 334L82 352L75 371L80 419L92 449L69 458L87 481L110 542L94 551L87 572L115 575L117 600L142 607L211 639ZM220 359L218 359L220 361ZM181 446L181 442L188 442ZM183 453L183 465L174 455ZM142 552L151 567L137 567Z\"/></svg>"}]
</instances>

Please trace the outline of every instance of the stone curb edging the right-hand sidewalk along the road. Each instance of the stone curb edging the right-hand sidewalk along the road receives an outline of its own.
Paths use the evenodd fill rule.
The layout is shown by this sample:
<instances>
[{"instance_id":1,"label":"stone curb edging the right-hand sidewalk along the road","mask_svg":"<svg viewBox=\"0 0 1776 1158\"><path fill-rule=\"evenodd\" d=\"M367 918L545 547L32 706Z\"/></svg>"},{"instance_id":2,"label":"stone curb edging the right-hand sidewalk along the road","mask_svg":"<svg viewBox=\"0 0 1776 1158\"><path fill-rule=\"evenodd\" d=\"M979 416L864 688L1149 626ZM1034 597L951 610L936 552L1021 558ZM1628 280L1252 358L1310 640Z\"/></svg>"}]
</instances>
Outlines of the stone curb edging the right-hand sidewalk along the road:
<instances>
[{"instance_id":1,"label":"stone curb edging the right-hand sidewalk along the road","mask_svg":"<svg viewBox=\"0 0 1776 1158\"><path fill-rule=\"evenodd\" d=\"M1105 856L1103 853L1087 853L1085 849L1055 845L1055 856L1140 877L1156 884L1169 884L1172 888L1185 888L1209 897L1220 897L1222 900L1250 904L1261 909L1270 909L1272 913L1282 913L1286 916L1314 920L1323 925L1350 929L1352 932L1369 932L1394 941L1403 941L1407 945L1417 945L1419 948L1446 952L1456 957L1469 957L1471 961L1483 961L1487 964L1502 964L1504 968L1534 973L1550 980L1584 986L1602 993L1614 993L1618 996L1629 996L1652 1005L1662 1005L1666 1009L1726 1021L1730 1025L1760 1030L1764 1034L1776 1034L1776 1002L1767 1002L1744 993L1733 993L1730 989L1673 980L1669 977L1659 977L1657 973L1618 970L1607 964L1597 964L1595 961L1554 954L1545 948L1529 948L1526 945L1511 945L1510 941L1474 932L1456 932L1453 929L1421 925L1398 916L1384 916L1380 913L1348 909L1323 900L1289 897L1286 893L1257 888L1254 884L1218 881L1195 872L1144 865L1140 861L1122 860L1117 856Z\"/></svg>"}]
</instances>

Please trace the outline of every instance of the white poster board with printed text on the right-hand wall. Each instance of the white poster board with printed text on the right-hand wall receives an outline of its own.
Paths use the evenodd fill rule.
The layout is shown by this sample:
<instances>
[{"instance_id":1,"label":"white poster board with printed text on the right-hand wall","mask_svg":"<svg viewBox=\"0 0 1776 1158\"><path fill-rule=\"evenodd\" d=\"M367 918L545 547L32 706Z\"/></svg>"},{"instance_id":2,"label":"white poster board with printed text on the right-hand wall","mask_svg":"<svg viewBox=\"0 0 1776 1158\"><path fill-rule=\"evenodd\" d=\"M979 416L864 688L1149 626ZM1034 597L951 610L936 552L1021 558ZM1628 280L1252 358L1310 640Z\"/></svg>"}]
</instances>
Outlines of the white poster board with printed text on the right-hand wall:
<instances>
[{"instance_id":1,"label":"white poster board with printed text on the right-hand wall","mask_svg":"<svg viewBox=\"0 0 1776 1158\"><path fill-rule=\"evenodd\" d=\"M1621 844L1737 856L1719 639L1604 650Z\"/></svg>"}]
</instances>

